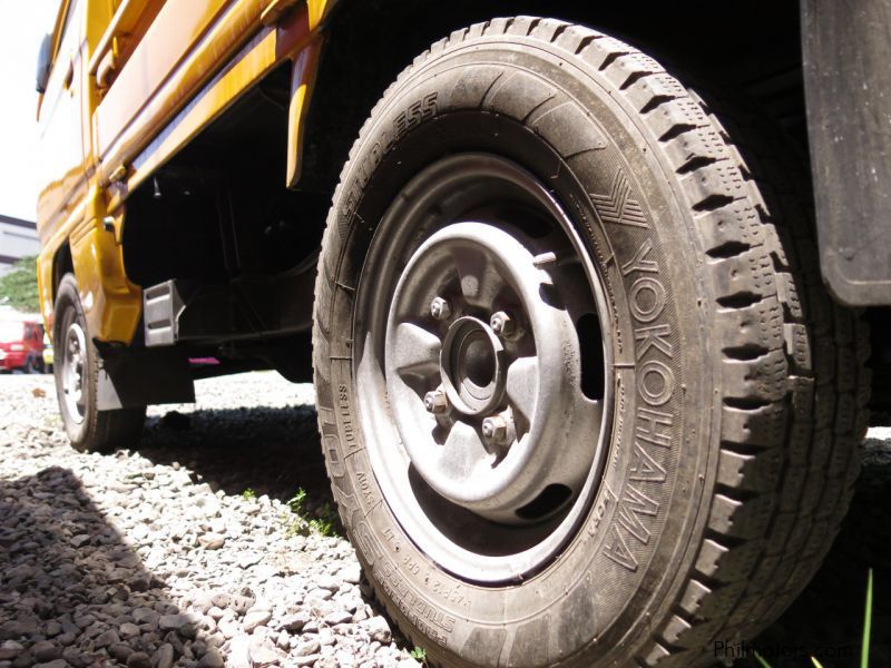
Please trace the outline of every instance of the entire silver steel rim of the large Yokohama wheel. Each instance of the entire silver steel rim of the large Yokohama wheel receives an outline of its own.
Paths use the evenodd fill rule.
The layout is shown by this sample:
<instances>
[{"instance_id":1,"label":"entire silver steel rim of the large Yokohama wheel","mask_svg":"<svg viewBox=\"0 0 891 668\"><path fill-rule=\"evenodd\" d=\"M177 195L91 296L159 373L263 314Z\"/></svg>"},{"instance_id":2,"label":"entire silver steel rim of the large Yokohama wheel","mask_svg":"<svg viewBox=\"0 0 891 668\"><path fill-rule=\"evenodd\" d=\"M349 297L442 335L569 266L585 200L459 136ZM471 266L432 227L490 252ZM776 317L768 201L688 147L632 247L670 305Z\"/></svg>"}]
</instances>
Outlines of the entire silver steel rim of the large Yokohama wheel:
<instances>
[{"instance_id":1,"label":"entire silver steel rim of the large Yokohama wheel","mask_svg":"<svg viewBox=\"0 0 891 668\"><path fill-rule=\"evenodd\" d=\"M402 195L378 233L388 268L358 293L369 456L391 511L441 567L528 577L599 487L611 347L581 325L610 322L600 279L562 209L508 160L453 156Z\"/></svg>"}]
</instances>

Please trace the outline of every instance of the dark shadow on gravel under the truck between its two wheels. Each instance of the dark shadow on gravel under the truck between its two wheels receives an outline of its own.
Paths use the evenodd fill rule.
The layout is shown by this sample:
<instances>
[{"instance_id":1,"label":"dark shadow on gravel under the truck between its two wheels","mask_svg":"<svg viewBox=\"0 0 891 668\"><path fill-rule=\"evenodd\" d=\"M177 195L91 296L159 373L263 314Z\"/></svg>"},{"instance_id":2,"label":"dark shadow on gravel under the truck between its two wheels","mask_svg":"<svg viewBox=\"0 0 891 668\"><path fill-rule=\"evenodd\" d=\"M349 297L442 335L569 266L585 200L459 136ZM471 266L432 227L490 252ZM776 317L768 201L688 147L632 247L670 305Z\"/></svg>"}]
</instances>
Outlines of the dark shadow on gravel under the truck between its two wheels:
<instances>
[{"instance_id":1,"label":"dark shadow on gravel under the truck between its two wheels","mask_svg":"<svg viewBox=\"0 0 891 668\"><path fill-rule=\"evenodd\" d=\"M303 488L307 511L333 504L313 406L174 411L146 421L138 448L226 494L253 490L286 502Z\"/></svg>"}]
</instances>

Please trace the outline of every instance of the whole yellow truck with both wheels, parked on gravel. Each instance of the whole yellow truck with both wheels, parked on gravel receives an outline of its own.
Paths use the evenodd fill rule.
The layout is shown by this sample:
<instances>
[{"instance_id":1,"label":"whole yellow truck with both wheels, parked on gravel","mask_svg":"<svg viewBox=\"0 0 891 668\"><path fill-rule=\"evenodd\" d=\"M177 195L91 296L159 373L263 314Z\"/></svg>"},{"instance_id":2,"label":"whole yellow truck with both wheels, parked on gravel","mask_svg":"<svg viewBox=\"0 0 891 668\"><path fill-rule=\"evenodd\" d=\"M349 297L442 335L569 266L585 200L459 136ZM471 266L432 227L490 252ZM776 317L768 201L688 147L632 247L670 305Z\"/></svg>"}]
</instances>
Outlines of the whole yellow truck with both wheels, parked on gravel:
<instances>
[{"instance_id":1,"label":"whole yellow truck with both wheels, parked on gravel","mask_svg":"<svg viewBox=\"0 0 891 668\"><path fill-rule=\"evenodd\" d=\"M63 0L38 273L71 444L195 379L312 379L431 662L726 659L890 396L889 18L843 6Z\"/></svg>"}]
</instances>

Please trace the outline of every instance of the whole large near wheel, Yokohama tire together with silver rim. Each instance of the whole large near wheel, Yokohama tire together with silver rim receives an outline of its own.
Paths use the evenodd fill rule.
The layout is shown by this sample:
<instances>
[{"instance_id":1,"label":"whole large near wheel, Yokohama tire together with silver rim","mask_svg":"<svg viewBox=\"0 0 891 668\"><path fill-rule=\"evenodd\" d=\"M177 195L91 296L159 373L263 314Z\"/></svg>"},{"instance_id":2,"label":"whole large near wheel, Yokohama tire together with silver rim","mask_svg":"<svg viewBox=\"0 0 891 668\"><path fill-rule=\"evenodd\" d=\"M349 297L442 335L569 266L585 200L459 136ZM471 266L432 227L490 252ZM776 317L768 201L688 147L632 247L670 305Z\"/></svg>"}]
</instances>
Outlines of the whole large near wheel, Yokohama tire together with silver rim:
<instances>
[{"instance_id":1,"label":"whole large near wheel, Yokohama tire together with silver rim","mask_svg":"<svg viewBox=\"0 0 891 668\"><path fill-rule=\"evenodd\" d=\"M776 145L714 111L610 37L497 19L415 59L353 146L320 430L365 573L434 664L708 665L831 544L865 330L794 183L763 181Z\"/></svg>"}]
</instances>

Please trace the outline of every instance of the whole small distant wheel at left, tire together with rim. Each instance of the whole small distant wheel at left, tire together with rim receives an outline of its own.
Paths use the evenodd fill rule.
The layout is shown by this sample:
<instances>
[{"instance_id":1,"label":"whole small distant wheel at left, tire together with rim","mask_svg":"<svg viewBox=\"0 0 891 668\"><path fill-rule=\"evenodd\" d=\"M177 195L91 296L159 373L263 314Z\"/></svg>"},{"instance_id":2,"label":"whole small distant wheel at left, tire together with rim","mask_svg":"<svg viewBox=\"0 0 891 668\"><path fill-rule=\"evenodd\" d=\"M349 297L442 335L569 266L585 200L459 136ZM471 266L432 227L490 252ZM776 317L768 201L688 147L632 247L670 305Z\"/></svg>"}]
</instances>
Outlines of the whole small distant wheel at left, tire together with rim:
<instances>
[{"instance_id":1,"label":"whole small distant wheel at left, tire together with rim","mask_svg":"<svg viewBox=\"0 0 891 668\"><path fill-rule=\"evenodd\" d=\"M53 364L56 395L71 446L80 452L109 452L135 445L143 433L146 409L98 410L100 358L71 274L59 283L52 326L59 356L59 363Z\"/></svg>"}]
</instances>

